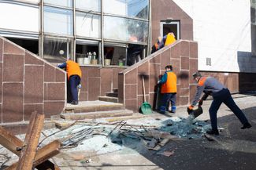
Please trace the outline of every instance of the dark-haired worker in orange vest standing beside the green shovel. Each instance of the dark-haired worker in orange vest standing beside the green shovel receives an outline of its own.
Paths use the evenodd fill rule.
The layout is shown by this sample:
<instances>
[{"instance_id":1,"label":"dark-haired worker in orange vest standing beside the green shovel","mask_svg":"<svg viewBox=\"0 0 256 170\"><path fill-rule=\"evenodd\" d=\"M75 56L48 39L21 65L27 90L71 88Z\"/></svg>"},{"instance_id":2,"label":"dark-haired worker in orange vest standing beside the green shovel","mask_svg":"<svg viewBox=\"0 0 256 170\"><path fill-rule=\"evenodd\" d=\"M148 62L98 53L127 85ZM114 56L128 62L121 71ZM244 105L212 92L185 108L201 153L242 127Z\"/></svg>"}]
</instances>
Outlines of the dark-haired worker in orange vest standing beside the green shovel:
<instances>
[{"instance_id":1,"label":"dark-haired worker in orange vest standing beside the green shovel","mask_svg":"<svg viewBox=\"0 0 256 170\"><path fill-rule=\"evenodd\" d=\"M160 113L165 114L165 110L169 110L168 103L171 103L171 113L176 112L176 92L177 92L177 78L176 74L173 73L173 66L167 65L165 67L165 74L158 81L161 84L161 93L163 98L161 99Z\"/></svg>"}]
</instances>

